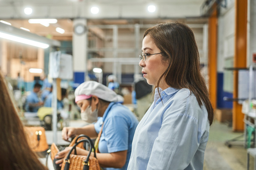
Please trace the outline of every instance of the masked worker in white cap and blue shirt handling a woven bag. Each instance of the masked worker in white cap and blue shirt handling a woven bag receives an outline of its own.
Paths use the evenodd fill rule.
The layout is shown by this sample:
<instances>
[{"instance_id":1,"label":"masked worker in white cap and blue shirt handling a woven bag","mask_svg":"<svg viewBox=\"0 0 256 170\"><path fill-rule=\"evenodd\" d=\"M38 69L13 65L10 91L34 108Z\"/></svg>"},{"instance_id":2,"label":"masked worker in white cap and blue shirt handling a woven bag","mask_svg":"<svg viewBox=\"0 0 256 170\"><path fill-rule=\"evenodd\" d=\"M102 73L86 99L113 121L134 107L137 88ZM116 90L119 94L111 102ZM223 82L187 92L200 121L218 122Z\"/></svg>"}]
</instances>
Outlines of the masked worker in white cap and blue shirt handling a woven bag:
<instances>
[{"instance_id":1,"label":"masked worker in white cap and blue shirt handling a woven bag","mask_svg":"<svg viewBox=\"0 0 256 170\"><path fill-rule=\"evenodd\" d=\"M125 170L130 159L132 139L138 120L133 113L118 103L117 94L108 87L95 81L87 81L75 90L75 101L81 108L82 120L95 124L84 127L64 127L62 138L85 134L96 139L97 158L105 170ZM98 120L97 120L97 117ZM99 139L99 142L97 142ZM71 148L66 148L55 157L61 164ZM88 151L77 148L78 155L87 155ZM91 153L91 156L94 153Z\"/></svg>"}]
</instances>

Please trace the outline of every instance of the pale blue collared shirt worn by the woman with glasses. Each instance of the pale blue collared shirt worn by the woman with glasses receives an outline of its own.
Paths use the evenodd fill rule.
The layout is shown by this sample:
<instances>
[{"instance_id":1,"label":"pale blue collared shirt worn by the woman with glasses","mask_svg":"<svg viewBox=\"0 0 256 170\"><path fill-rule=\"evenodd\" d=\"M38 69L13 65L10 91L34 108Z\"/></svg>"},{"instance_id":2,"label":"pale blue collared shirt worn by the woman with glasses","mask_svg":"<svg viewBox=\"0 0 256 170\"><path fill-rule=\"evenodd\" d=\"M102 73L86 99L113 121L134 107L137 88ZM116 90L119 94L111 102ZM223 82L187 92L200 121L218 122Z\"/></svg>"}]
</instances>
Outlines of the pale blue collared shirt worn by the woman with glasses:
<instances>
[{"instance_id":1,"label":"pale blue collared shirt worn by the woman with glasses","mask_svg":"<svg viewBox=\"0 0 256 170\"><path fill-rule=\"evenodd\" d=\"M202 170L208 112L188 89L157 88L134 134L128 170Z\"/></svg>"}]
</instances>

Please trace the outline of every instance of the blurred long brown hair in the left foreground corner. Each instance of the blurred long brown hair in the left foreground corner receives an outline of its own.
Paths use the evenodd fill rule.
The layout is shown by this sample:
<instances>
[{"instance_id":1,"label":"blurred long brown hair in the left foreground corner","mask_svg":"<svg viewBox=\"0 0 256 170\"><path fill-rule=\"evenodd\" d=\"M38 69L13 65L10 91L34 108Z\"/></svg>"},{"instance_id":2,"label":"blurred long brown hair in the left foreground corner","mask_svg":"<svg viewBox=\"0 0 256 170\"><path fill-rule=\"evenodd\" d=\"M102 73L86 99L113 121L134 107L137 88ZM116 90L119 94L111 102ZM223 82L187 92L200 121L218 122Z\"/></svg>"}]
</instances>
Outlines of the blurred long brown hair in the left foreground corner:
<instances>
[{"instance_id":1,"label":"blurred long brown hair in the left foreground corner","mask_svg":"<svg viewBox=\"0 0 256 170\"><path fill-rule=\"evenodd\" d=\"M47 169L30 149L0 72L0 169Z\"/></svg>"}]
</instances>

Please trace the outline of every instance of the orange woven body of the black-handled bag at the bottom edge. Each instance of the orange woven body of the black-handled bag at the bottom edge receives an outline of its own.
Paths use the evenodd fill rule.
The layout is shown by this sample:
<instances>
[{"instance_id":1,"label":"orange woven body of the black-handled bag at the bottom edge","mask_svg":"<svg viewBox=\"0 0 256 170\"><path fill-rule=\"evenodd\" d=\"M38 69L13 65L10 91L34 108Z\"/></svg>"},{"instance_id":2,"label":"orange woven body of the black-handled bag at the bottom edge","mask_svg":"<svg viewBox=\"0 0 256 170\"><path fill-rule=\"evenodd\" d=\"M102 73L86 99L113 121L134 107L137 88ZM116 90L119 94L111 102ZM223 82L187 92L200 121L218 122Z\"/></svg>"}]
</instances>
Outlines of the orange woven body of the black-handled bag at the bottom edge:
<instances>
[{"instance_id":1,"label":"orange woven body of the black-handled bag at the bottom edge","mask_svg":"<svg viewBox=\"0 0 256 170\"><path fill-rule=\"evenodd\" d=\"M70 154L69 170L83 170L84 168L83 161L85 159L86 159L86 156ZM66 164L66 161L64 159L61 166L61 170L64 170L65 164ZM89 157L89 170L101 170L97 158L92 156Z\"/></svg>"}]
</instances>

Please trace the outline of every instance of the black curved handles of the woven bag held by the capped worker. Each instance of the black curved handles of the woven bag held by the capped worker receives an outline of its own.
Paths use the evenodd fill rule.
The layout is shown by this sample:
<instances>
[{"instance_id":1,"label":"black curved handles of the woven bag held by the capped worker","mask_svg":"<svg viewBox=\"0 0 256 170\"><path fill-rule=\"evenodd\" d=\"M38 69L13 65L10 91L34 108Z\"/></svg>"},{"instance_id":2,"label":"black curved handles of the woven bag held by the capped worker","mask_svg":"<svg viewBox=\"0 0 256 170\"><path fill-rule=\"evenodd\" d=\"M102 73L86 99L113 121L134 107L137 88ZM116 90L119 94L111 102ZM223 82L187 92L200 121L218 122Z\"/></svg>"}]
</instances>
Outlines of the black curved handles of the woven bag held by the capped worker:
<instances>
[{"instance_id":1,"label":"black curved handles of the woven bag held by the capped worker","mask_svg":"<svg viewBox=\"0 0 256 170\"><path fill-rule=\"evenodd\" d=\"M79 136L80 136L80 135L79 135ZM87 170L87 169L89 170L88 162L89 162L89 156L90 156L90 154L91 154L91 152L92 152L92 149L94 149L94 157L97 158L97 157L96 157L96 153L95 153L95 148L94 148L94 146L92 145L92 144L93 144L93 141L92 141L88 136L86 136L86 135L84 135L84 137L87 137L88 139L82 139L82 140L80 140L80 141L77 141L77 142L75 143L75 145L72 147L72 149L68 152L67 158L65 159L66 164L65 164L64 170L68 170L68 169L69 169L69 164L70 164L69 158L70 158L70 154L71 154L71 152L73 151L73 149L76 148L76 145L78 145L78 144L81 143L81 142L89 142L89 144L90 144L89 153L88 153L86 159L85 159L84 162L83 162L83 164L84 164L84 170ZM77 137L77 138L78 138L78 137Z\"/></svg>"}]
</instances>

